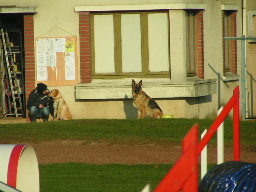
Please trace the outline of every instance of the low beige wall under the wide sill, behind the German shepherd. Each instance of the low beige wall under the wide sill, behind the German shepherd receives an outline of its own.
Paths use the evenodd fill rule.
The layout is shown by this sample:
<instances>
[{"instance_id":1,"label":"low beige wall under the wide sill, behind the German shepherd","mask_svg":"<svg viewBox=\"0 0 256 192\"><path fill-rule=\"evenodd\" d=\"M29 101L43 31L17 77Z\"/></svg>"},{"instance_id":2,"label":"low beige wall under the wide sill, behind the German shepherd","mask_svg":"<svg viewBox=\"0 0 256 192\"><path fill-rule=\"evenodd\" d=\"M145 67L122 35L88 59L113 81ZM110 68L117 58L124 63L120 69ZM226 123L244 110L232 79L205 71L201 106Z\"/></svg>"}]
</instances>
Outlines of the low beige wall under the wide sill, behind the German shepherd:
<instances>
[{"instance_id":1,"label":"low beige wall under the wide sill, behind the German shepherd","mask_svg":"<svg viewBox=\"0 0 256 192\"><path fill-rule=\"evenodd\" d=\"M164 114L172 114L175 118L184 117L184 102L176 100L156 100ZM110 101L78 101L69 104L70 112L77 119L82 118L108 118L108 119L134 119L138 110L132 99Z\"/></svg>"}]
</instances>

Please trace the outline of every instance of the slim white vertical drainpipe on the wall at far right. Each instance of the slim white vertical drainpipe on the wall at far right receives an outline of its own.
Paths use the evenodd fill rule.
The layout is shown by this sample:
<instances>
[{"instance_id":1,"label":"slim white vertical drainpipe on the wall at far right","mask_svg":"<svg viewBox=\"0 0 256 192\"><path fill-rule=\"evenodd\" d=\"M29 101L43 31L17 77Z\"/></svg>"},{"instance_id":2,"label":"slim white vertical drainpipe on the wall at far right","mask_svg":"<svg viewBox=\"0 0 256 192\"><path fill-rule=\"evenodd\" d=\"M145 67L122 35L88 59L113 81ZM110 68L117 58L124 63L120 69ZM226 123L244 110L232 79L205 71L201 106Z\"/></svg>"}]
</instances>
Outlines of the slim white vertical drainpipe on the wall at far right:
<instances>
[{"instance_id":1,"label":"slim white vertical drainpipe on the wall at far right","mask_svg":"<svg viewBox=\"0 0 256 192\"><path fill-rule=\"evenodd\" d=\"M242 0L242 35L246 37L246 0ZM246 42L245 42L246 45ZM246 62L246 46L245 51L245 118L248 118L248 92L247 92L247 62Z\"/></svg>"}]
</instances>

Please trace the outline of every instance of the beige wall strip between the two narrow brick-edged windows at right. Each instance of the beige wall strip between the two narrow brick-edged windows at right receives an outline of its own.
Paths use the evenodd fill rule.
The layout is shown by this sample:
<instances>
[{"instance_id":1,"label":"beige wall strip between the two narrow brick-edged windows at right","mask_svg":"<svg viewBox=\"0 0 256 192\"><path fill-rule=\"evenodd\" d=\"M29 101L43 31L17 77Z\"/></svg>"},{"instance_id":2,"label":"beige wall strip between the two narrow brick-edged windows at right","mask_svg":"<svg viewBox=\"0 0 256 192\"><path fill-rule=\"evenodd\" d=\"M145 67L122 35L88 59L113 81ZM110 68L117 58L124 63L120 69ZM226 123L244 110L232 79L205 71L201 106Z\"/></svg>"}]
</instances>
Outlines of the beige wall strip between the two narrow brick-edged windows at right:
<instances>
[{"instance_id":1,"label":"beige wall strip between the two narrow brick-edged windows at right","mask_svg":"<svg viewBox=\"0 0 256 192\"><path fill-rule=\"evenodd\" d=\"M204 75L205 78L217 79L217 94L212 95L211 108L204 109L205 116L212 116L218 111L218 88L220 79L218 74L222 73L222 14L219 1L207 0L207 7L204 11ZM212 27L214 26L214 27ZM202 104L201 104L202 105ZM208 111L210 110L210 111Z\"/></svg>"}]
</instances>

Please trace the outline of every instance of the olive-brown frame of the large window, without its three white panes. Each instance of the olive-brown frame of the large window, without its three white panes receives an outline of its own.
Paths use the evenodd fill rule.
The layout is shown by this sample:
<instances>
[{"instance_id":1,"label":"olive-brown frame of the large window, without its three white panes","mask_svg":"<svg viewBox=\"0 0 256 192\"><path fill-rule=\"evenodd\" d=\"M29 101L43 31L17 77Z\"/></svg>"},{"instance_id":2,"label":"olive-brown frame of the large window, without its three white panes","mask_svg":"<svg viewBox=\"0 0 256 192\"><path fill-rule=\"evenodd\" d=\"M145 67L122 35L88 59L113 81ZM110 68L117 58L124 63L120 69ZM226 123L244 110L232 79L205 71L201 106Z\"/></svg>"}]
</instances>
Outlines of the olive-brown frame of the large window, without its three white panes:
<instances>
[{"instance_id":1,"label":"olive-brown frame of the large window, without its three white panes","mask_svg":"<svg viewBox=\"0 0 256 192\"><path fill-rule=\"evenodd\" d=\"M90 12L90 41L91 41L91 60L92 60L92 78L157 78L170 77L170 38L168 38L168 67L166 72L149 71L149 53L148 53L148 14L167 13L168 35L170 34L169 12L160 11L118 11L118 12ZM114 60L115 73L95 73L95 52L94 52L94 15L113 14L114 18ZM142 72L122 72L122 45L121 45L121 15L122 14L140 14L141 26L141 54L142 54Z\"/></svg>"}]
</instances>

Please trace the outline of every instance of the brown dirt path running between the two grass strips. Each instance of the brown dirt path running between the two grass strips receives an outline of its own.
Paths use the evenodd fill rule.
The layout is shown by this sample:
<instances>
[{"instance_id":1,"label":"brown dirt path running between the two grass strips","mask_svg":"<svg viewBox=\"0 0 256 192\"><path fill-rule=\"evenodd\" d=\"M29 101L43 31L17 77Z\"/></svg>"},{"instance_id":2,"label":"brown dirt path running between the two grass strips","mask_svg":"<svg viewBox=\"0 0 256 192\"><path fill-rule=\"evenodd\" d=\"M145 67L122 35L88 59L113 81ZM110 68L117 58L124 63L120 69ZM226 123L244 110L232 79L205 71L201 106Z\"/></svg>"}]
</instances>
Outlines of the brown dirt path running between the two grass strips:
<instances>
[{"instance_id":1,"label":"brown dirt path running between the two grass strips","mask_svg":"<svg viewBox=\"0 0 256 192\"><path fill-rule=\"evenodd\" d=\"M106 142L52 141L30 143L36 152L39 164L48 163L92 163L92 164L165 164L175 163L181 154L181 146L110 145ZM224 161L233 160L233 148L224 149ZM216 148L208 147L208 162L215 163ZM240 151L240 160L256 162L256 150Z\"/></svg>"}]
</instances>

